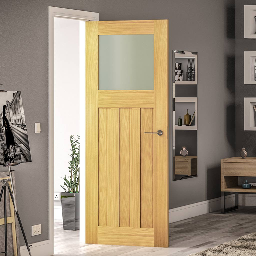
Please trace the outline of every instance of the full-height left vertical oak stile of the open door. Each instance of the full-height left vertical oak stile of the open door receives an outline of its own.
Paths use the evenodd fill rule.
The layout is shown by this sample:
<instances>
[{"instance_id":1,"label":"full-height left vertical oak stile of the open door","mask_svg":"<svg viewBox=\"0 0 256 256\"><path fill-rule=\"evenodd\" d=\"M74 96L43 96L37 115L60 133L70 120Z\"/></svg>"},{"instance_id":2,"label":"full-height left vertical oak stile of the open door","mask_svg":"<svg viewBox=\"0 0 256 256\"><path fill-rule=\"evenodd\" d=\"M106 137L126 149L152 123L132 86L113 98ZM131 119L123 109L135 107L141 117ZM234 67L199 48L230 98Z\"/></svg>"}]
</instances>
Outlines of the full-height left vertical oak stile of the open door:
<instances>
[{"instance_id":1,"label":"full-height left vertical oak stile of the open door","mask_svg":"<svg viewBox=\"0 0 256 256\"><path fill-rule=\"evenodd\" d=\"M98 22L86 22L86 242L98 243Z\"/></svg>"}]
</instances>

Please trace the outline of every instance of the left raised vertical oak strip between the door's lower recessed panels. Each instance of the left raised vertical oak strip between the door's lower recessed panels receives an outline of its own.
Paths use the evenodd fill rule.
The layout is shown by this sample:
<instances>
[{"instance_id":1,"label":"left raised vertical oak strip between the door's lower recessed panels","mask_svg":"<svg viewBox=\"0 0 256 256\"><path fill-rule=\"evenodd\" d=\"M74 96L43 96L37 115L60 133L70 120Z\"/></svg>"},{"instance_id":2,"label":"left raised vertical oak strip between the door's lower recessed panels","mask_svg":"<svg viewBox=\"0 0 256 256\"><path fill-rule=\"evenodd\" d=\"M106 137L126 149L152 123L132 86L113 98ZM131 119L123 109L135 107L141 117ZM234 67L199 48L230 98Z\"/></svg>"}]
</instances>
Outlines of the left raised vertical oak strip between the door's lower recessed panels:
<instances>
[{"instance_id":1,"label":"left raised vertical oak strip between the door's lower recessed panels","mask_svg":"<svg viewBox=\"0 0 256 256\"><path fill-rule=\"evenodd\" d=\"M108 109L107 127L108 225L119 226L119 109Z\"/></svg>"}]
</instances>

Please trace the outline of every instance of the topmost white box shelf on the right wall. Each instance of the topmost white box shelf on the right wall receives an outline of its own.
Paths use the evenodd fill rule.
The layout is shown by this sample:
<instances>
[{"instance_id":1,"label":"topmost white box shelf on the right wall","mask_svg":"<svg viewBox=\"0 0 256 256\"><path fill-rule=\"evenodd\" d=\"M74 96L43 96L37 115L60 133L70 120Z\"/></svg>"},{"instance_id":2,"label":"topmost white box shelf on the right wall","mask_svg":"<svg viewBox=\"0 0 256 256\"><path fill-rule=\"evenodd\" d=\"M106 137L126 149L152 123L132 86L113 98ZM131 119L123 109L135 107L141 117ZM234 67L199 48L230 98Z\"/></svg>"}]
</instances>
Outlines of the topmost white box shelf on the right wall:
<instances>
[{"instance_id":1,"label":"topmost white box shelf on the right wall","mask_svg":"<svg viewBox=\"0 0 256 256\"><path fill-rule=\"evenodd\" d=\"M244 6L244 38L256 39L256 5Z\"/></svg>"}]
</instances>

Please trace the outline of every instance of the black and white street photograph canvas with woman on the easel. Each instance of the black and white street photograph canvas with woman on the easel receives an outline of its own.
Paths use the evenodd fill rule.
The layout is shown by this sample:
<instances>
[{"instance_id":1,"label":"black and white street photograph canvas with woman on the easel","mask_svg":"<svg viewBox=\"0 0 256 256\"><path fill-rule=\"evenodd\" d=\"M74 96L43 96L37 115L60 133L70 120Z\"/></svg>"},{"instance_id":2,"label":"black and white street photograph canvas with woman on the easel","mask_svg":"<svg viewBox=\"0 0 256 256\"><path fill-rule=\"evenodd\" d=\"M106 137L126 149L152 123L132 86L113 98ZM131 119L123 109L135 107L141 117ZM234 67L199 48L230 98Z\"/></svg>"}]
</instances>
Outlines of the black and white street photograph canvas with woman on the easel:
<instances>
[{"instance_id":1,"label":"black and white street photograph canvas with woman on the easel","mask_svg":"<svg viewBox=\"0 0 256 256\"><path fill-rule=\"evenodd\" d=\"M0 92L0 108L0 165L31 162L21 92Z\"/></svg>"}]
</instances>

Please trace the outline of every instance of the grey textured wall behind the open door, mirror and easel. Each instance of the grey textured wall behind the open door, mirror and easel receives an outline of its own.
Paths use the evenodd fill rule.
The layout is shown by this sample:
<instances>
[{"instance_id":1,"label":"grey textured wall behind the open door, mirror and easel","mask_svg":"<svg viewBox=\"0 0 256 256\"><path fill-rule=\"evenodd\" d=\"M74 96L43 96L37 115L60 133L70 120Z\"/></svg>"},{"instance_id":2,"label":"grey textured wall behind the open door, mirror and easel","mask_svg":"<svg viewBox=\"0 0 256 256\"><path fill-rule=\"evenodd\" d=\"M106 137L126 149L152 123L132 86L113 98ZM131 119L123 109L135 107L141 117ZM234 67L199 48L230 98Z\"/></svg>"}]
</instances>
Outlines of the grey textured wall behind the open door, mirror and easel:
<instances>
[{"instance_id":1,"label":"grey textured wall behind the open door, mirror and easel","mask_svg":"<svg viewBox=\"0 0 256 256\"><path fill-rule=\"evenodd\" d=\"M220 196L220 159L234 154L234 0L1 0L0 82L23 93L33 161L16 168L29 243L48 238L48 6L99 12L100 20L169 19L170 88L172 50L198 52L198 177L172 182L170 176L169 205ZM30 237L38 223L42 234Z\"/></svg>"}]
</instances>

